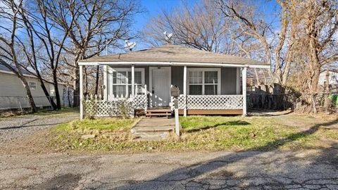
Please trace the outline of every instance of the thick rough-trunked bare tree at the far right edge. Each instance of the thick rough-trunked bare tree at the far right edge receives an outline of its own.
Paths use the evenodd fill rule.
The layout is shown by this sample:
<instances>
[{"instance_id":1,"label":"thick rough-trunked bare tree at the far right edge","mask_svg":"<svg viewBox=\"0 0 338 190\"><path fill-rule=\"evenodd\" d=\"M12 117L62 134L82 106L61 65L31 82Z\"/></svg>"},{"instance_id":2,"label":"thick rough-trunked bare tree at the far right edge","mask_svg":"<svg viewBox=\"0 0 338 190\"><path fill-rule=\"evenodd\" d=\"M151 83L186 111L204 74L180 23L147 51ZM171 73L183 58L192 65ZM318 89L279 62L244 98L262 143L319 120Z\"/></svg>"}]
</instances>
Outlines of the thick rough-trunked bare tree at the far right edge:
<instances>
[{"instance_id":1,"label":"thick rough-trunked bare tree at the far right edge","mask_svg":"<svg viewBox=\"0 0 338 190\"><path fill-rule=\"evenodd\" d=\"M308 64L306 65L306 89L311 93L313 112L315 99L318 94L318 80L323 66L334 63L338 60L337 41L334 34L338 32L338 4L337 1L306 1L299 2L301 5L300 24L303 34L300 37L303 49L306 49L305 56ZM298 52L301 54L301 52Z\"/></svg>"}]
</instances>

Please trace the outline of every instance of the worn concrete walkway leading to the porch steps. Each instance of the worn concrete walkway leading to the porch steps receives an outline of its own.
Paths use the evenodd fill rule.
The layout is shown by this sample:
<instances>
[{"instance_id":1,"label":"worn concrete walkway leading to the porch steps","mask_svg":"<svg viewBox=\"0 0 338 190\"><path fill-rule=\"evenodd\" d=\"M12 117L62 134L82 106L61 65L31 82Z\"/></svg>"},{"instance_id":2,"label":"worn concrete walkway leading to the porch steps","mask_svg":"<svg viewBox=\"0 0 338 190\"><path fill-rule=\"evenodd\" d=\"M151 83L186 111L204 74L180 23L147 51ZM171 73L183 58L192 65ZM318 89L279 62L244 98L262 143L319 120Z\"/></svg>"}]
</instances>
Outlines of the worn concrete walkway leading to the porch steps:
<instances>
[{"instance_id":1,"label":"worn concrete walkway leading to the porch steps","mask_svg":"<svg viewBox=\"0 0 338 190\"><path fill-rule=\"evenodd\" d=\"M144 118L132 127L131 132L133 139L149 141L167 139L174 129L173 118Z\"/></svg>"}]
</instances>

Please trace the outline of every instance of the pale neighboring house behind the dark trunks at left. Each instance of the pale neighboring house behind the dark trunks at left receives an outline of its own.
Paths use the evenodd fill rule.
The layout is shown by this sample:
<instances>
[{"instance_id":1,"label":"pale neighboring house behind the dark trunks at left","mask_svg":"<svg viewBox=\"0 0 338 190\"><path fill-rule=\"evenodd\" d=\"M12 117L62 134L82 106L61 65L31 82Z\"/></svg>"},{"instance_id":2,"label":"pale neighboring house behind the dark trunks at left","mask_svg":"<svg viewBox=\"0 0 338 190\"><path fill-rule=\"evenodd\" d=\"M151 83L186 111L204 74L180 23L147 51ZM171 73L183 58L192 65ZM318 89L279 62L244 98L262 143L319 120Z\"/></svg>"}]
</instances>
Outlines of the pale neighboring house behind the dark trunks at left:
<instances>
[{"instance_id":1,"label":"pale neighboring house behind the dark trunks at left","mask_svg":"<svg viewBox=\"0 0 338 190\"><path fill-rule=\"evenodd\" d=\"M51 106L46 98L40 82L34 75L31 75L26 70L23 70L23 75L30 86L33 99L37 107ZM50 96L55 99L55 91L53 84L45 82L46 89L49 90ZM63 100L67 101L65 106L68 106L68 88L65 84L58 84L58 90L61 96L61 105L64 105ZM53 97L54 96L54 97ZM21 80L15 73L8 70L4 65L0 65L0 110L30 108L27 101L25 89Z\"/></svg>"}]
</instances>

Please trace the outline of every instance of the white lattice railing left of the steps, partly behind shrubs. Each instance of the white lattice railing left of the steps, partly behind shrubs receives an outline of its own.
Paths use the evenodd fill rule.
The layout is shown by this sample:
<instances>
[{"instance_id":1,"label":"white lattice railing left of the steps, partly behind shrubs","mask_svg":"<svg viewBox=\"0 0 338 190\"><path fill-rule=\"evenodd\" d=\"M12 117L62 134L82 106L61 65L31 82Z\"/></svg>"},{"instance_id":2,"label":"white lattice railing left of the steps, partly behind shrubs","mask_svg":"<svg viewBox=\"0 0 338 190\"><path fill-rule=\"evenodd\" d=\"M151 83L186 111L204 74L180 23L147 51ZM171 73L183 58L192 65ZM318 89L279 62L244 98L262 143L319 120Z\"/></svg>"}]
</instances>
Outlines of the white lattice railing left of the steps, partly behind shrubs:
<instances>
[{"instance_id":1,"label":"white lattice railing left of the steps, partly behind shrubs","mask_svg":"<svg viewBox=\"0 0 338 190\"><path fill-rule=\"evenodd\" d=\"M121 104L124 103L125 112L130 116L134 116L134 110L146 110L148 106L147 97L145 94L137 94L134 97L109 97L108 100L100 98L88 98L84 101L84 113L87 116L95 117L116 117L121 116Z\"/></svg>"}]
</instances>

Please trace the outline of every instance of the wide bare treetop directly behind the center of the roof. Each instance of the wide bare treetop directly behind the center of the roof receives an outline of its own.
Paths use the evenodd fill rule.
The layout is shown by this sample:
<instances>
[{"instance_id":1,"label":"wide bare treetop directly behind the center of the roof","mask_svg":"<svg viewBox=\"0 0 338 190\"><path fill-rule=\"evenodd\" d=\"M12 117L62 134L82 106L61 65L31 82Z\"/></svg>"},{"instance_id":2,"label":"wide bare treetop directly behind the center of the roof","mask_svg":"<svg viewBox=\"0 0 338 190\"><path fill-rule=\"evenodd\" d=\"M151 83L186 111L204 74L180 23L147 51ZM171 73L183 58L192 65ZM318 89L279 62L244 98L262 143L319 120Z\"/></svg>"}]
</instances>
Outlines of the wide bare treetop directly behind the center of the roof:
<instances>
[{"instance_id":1,"label":"wide bare treetop directly behind the center of the roof","mask_svg":"<svg viewBox=\"0 0 338 190\"><path fill-rule=\"evenodd\" d=\"M193 7L183 4L174 11L162 11L144 27L143 38L151 46L166 44L163 32L168 31L173 33L172 44L233 53L225 52L233 42L225 38L226 20L219 12L212 1L202 1Z\"/></svg>"}]
</instances>

